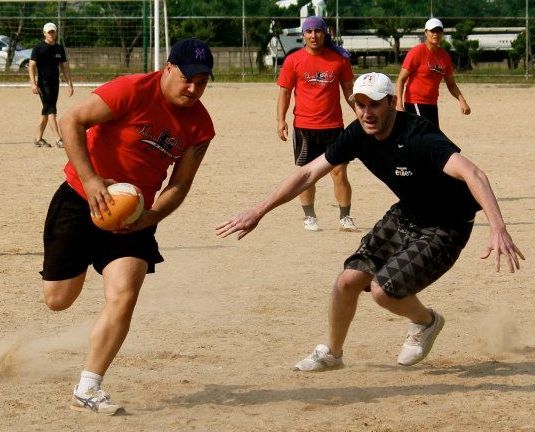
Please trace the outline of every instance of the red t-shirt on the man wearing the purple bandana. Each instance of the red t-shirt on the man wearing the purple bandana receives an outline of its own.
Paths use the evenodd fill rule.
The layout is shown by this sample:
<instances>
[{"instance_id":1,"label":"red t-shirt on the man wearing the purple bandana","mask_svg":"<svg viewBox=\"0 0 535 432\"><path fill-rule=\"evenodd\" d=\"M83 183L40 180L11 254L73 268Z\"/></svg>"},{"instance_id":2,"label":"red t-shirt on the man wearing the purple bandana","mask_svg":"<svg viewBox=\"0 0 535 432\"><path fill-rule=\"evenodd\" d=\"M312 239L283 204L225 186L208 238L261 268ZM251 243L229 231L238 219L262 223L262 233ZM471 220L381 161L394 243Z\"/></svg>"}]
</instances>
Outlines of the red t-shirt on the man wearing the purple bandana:
<instances>
[{"instance_id":1,"label":"red t-shirt on the man wearing the purple bandana","mask_svg":"<svg viewBox=\"0 0 535 432\"><path fill-rule=\"evenodd\" d=\"M344 127L340 83L352 80L351 64L340 54L326 48L312 55L303 48L284 60L277 84L294 89L295 127L331 129Z\"/></svg>"}]
</instances>

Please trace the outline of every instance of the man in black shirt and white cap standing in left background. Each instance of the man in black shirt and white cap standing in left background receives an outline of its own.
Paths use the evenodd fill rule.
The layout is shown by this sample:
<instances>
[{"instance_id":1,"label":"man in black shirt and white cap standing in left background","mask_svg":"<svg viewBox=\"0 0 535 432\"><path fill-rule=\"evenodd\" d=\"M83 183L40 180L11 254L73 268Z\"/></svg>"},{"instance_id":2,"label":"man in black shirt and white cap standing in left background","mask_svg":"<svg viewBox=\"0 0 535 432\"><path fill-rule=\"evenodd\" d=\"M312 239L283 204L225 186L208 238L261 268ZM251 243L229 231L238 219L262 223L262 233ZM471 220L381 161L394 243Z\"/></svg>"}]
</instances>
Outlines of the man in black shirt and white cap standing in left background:
<instances>
[{"instance_id":1,"label":"man in black shirt and white cap standing in left background","mask_svg":"<svg viewBox=\"0 0 535 432\"><path fill-rule=\"evenodd\" d=\"M56 120L59 94L59 70L63 73L68 84L69 96L73 94L71 70L65 49L57 41L57 27L54 23L46 23L43 27L43 34L45 39L32 50L30 59L30 84L32 92L38 94L43 104L41 110L41 121L37 126L36 136L34 138L34 145L36 147L51 147L51 145L43 139L46 125L50 122L52 132L56 136L56 146L63 147L63 141L58 128ZM37 73L36 73L37 72Z\"/></svg>"}]
</instances>

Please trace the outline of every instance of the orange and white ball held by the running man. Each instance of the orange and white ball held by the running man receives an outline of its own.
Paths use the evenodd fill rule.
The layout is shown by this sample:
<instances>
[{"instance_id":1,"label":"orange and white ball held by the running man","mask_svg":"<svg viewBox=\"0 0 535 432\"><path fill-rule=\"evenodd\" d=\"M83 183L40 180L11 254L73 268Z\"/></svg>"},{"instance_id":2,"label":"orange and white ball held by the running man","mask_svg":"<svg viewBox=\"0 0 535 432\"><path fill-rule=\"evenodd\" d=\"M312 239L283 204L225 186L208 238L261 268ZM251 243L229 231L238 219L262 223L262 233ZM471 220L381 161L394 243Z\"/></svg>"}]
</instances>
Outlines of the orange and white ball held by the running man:
<instances>
[{"instance_id":1,"label":"orange and white ball held by the running man","mask_svg":"<svg viewBox=\"0 0 535 432\"><path fill-rule=\"evenodd\" d=\"M108 192L115 204L108 204L111 214L101 212L102 218L91 215L93 223L106 231L118 231L134 223L143 212L144 199L141 190L130 183L114 183Z\"/></svg>"}]
</instances>

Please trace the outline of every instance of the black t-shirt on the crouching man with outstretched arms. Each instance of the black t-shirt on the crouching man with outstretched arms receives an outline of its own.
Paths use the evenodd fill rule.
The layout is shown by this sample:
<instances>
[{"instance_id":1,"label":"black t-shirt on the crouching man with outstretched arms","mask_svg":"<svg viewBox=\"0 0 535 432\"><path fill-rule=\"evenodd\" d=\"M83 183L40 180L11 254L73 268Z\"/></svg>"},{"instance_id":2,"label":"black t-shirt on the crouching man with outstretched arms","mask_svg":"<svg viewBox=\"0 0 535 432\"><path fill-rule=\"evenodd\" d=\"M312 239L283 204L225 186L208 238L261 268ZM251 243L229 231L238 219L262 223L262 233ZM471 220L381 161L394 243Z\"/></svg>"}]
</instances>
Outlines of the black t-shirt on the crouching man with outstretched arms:
<instances>
[{"instance_id":1,"label":"black t-shirt on the crouching man with outstretched arms","mask_svg":"<svg viewBox=\"0 0 535 432\"><path fill-rule=\"evenodd\" d=\"M397 112L387 139L367 135L355 120L325 157L332 165L360 159L416 222L456 225L472 220L481 210L466 183L443 172L450 156L460 151L429 121Z\"/></svg>"}]
</instances>

